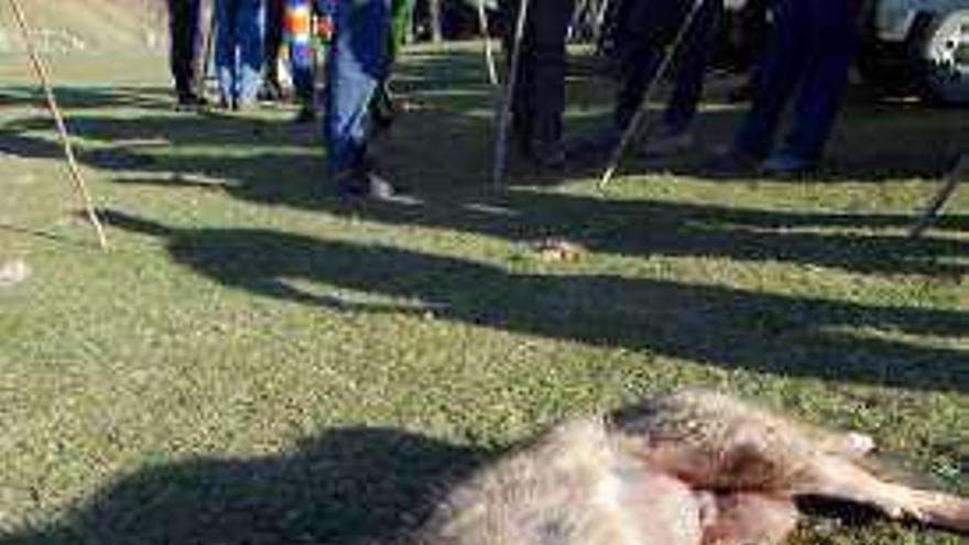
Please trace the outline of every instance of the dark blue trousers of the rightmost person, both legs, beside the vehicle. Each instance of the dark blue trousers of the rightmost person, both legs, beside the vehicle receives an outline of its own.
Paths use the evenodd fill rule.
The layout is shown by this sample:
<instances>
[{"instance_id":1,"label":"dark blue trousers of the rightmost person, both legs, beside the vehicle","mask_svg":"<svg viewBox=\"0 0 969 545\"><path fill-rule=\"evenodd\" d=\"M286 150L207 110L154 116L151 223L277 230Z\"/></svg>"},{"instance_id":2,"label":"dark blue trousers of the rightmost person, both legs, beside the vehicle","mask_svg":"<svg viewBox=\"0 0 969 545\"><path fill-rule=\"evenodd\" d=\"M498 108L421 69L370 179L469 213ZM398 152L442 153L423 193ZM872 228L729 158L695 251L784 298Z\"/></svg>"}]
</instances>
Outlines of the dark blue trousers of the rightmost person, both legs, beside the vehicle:
<instances>
[{"instance_id":1,"label":"dark blue trousers of the rightmost person, both legs, beside the vehicle","mask_svg":"<svg viewBox=\"0 0 969 545\"><path fill-rule=\"evenodd\" d=\"M834 128L848 84L857 42L857 0L781 0L753 106L733 142L738 153L770 153L784 108L794 91L794 126L784 152L814 161ZM798 90L799 89L799 90Z\"/></svg>"}]
</instances>

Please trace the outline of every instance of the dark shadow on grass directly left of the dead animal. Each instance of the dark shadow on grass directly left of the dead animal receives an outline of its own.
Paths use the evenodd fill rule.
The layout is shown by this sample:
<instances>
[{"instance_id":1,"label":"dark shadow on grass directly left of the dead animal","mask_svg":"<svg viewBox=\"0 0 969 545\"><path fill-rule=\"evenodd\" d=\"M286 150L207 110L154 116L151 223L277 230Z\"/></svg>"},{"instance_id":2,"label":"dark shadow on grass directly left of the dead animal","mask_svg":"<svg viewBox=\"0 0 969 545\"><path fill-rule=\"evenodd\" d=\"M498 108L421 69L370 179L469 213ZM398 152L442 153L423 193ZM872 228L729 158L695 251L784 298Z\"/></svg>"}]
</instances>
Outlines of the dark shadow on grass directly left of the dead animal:
<instances>
[{"instance_id":1,"label":"dark shadow on grass directly left of the dead animal","mask_svg":"<svg viewBox=\"0 0 969 545\"><path fill-rule=\"evenodd\" d=\"M279 457L151 465L0 545L390 545L488 457L396 429L334 429Z\"/></svg>"}]
</instances>

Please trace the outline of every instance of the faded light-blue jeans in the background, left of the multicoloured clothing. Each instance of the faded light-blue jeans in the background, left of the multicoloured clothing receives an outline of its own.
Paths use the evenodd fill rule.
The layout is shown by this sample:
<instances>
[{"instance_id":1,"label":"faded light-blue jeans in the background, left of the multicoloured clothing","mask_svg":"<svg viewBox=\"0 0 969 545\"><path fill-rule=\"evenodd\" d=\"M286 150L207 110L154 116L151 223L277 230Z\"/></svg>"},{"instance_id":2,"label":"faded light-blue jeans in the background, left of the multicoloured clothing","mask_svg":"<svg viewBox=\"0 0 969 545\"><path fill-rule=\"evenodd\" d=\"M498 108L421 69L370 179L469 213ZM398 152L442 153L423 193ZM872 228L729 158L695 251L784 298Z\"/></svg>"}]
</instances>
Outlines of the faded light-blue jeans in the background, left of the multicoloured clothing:
<instances>
[{"instance_id":1,"label":"faded light-blue jeans in the background, left of the multicoloured clothing","mask_svg":"<svg viewBox=\"0 0 969 545\"><path fill-rule=\"evenodd\" d=\"M216 69L226 103L255 101L263 62L264 0L216 0Z\"/></svg>"}]
</instances>

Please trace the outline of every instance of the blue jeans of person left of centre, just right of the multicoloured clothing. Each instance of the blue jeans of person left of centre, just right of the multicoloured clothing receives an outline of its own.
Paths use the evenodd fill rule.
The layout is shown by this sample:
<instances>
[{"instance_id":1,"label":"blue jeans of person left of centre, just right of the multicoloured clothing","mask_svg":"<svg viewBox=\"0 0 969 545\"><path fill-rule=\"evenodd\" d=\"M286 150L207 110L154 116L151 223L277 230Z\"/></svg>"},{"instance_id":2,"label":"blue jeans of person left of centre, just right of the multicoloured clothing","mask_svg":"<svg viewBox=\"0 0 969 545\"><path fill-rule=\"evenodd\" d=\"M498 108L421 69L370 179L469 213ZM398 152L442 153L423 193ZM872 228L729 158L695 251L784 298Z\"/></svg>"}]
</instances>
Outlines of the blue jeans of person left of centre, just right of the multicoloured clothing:
<instances>
[{"instance_id":1,"label":"blue jeans of person left of centre, just right of the multicoloured clothing","mask_svg":"<svg viewBox=\"0 0 969 545\"><path fill-rule=\"evenodd\" d=\"M340 0L327 55L324 135L331 172L360 166L369 105L390 70L391 0Z\"/></svg>"}]
</instances>

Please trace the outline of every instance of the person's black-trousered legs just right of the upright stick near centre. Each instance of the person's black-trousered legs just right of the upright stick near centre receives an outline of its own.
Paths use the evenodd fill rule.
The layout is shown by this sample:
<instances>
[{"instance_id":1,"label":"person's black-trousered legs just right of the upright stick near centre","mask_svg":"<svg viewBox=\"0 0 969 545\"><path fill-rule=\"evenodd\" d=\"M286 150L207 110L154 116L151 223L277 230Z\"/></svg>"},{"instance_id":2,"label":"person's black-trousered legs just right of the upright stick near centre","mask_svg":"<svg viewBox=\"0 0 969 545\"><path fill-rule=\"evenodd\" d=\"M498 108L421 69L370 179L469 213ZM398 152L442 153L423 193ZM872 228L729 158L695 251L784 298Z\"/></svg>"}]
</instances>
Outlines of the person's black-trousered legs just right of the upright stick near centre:
<instances>
[{"instance_id":1,"label":"person's black-trousered legs just right of the upright stick near centre","mask_svg":"<svg viewBox=\"0 0 969 545\"><path fill-rule=\"evenodd\" d=\"M516 21L522 0L502 0L505 21ZM535 164L558 168L565 164L562 116L565 111L565 41L574 0L527 0L529 17L522 37L515 88L512 89L512 129L522 151ZM514 23L508 24L505 51L514 51ZM509 55L510 57L511 55Z\"/></svg>"}]
</instances>

